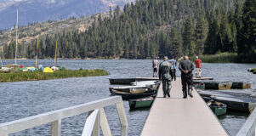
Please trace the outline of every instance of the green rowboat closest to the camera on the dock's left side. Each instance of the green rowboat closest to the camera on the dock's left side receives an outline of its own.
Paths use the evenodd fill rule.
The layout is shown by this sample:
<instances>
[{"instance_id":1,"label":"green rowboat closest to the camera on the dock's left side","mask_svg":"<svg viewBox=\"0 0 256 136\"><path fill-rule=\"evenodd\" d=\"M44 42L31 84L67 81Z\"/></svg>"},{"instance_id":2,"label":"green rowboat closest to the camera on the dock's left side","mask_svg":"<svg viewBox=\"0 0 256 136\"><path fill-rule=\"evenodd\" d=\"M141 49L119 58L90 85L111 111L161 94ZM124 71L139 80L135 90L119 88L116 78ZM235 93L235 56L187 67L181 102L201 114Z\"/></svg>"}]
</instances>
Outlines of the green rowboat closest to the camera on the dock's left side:
<instances>
[{"instance_id":1,"label":"green rowboat closest to the camera on the dock's left side","mask_svg":"<svg viewBox=\"0 0 256 136\"><path fill-rule=\"evenodd\" d=\"M140 109L140 108L150 108L154 101L154 97L146 97L142 99L130 99L129 106L130 110Z\"/></svg>"}]
</instances>

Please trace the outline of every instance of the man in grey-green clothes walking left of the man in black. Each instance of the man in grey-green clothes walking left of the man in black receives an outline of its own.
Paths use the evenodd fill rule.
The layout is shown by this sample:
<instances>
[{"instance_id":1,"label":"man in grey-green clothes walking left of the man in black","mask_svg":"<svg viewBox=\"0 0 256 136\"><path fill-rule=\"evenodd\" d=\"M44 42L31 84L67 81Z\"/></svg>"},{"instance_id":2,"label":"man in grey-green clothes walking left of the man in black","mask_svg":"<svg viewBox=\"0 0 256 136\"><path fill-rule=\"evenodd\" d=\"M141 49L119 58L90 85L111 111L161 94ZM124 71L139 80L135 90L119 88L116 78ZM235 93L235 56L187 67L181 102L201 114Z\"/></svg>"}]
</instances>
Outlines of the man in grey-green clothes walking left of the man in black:
<instances>
[{"instance_id":1,"label":"man in grey-green clothes walking left of the man in black","mask_svg":"<svg viewBox=\"0 0 256 136\"><path fill-rule=\"evenodd\" d=\"M172 88L171 82L173 81L173 78L171 76L171 69L173 68L173 65L171 65L168 62L168 57L165 56L162 63L159 65L159 80L162 81L162 91L163 91L163 97L166 98L166 95L170 97L170 91Z\"/></svg>"}]
</instances>

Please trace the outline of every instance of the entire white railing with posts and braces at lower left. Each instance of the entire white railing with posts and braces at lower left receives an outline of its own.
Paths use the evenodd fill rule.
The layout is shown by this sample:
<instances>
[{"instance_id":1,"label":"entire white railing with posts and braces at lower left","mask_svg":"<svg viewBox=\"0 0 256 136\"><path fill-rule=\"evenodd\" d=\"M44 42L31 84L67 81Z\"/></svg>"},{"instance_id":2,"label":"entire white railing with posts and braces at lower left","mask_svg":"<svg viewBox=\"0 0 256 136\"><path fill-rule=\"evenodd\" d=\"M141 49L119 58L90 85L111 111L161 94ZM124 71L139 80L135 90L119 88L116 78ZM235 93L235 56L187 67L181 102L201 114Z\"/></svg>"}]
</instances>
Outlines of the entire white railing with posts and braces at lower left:
<instances>
[{"instance_id":1,"label":"entire white railing with posts and braces at lower left","mask_svg":"<svg viewBox=\"0 0 256 136\"><path fill-rule=\"evenodd\" d=\"M57 111L50 111L37 116L30 116L13 122L5 122L0 124L0 136L8 136L10 133L17 133L22 130L37 127L51 122L51 135L61 135L61 119L71 116L77 116L88 112L88 118L85 122L82 136L100 135L100 127L102 133L111 136L111 129L107 122L104 107L109 105L117 105L117 112L121 122L121 135L127 136L127 117L125 115L122 98L120 96L100 99L82 105L76 105Z\"/></svg>"}]
</instances>

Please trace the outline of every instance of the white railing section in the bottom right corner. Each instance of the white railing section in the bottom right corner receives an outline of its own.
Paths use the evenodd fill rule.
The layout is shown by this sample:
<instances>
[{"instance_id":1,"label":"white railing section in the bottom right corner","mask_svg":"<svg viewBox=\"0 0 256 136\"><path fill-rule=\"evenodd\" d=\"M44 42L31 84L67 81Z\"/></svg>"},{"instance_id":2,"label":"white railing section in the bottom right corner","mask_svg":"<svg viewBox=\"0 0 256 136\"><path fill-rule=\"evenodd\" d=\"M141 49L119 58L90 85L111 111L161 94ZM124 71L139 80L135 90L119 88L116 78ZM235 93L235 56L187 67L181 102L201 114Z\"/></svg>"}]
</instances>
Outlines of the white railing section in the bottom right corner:
<instances>
[{"instance_id":1,"label":"white railing section in the bottom right corner","mask_svg":"<svg viewBox=\"0 0 256 136\"><path fill-rule=\"evenodd\" d=\"M243 124L242 128L236 133L236 136L255 136L256 127L256 108L251 115L247 118L247 121Z\"/></svg>"}]
</instances>

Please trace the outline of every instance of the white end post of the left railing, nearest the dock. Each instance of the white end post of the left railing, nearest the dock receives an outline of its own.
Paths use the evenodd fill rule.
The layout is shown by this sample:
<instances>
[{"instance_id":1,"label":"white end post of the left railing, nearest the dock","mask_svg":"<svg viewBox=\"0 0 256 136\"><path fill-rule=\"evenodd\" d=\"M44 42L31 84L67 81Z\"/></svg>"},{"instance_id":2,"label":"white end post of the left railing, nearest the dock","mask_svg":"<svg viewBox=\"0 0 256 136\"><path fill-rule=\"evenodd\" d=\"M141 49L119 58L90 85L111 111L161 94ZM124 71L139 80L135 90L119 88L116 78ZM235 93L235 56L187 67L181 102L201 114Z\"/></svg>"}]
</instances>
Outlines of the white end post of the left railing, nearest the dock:
<instances>
[{"instance_id":1,"label":"white end post of the left railing, nearest the dock","mask_svg":"<svg viewBox=\"0 0 256 136\"><path fill-rule=\"evenodd\" d=\"M124 111L123 103L119 102L116 105L117 105L117 111L118 111L119 119L120 119L120 122L121 122L121 135L122 136L127 136L128 122L127 122L127 117L126 117L126 114L125 114L125 111Z\"/></svg>"}]
</instances>

